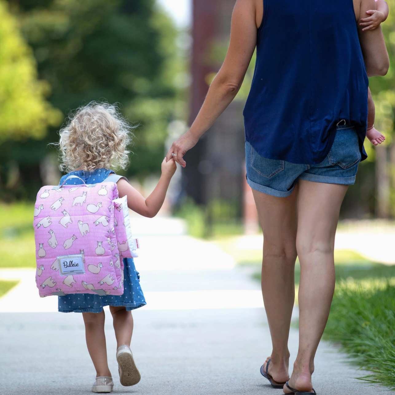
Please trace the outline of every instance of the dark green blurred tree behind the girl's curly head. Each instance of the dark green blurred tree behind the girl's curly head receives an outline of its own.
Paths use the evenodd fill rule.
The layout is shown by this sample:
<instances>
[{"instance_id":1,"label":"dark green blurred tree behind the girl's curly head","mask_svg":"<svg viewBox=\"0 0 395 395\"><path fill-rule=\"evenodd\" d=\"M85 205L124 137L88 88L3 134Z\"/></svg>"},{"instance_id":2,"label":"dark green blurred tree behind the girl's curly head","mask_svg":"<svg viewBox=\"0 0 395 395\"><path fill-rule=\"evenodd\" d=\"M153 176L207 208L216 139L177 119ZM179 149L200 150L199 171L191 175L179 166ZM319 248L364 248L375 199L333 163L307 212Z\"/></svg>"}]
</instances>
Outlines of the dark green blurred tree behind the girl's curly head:
<instances>
[{"instance_id":1,"label":"dark green blurred tree behind the girl's curly head","mask_svg":"<svg viewBox=\"0 0 395 395\"><path fill-rule=\"evenodd\" d=\"M141 125L132 148L137 155L127 174L159 171L166 127L175 116L177 67L169 70L169 58L177 55L177 31L156 9L155 0L8 2L34 51L40 78L51 87L53 106L67 115L91 100L119 102L129 120ZM33 167L38 174L40 162L50 153L47 143L57 140L56 132L51 128L34 150L31 141L3 144L0 157L5 157L0 162L8 163L12 154L26 165L22 176ZM24 185L28 182L23 180Z\"/></svg>"}]
</instances>

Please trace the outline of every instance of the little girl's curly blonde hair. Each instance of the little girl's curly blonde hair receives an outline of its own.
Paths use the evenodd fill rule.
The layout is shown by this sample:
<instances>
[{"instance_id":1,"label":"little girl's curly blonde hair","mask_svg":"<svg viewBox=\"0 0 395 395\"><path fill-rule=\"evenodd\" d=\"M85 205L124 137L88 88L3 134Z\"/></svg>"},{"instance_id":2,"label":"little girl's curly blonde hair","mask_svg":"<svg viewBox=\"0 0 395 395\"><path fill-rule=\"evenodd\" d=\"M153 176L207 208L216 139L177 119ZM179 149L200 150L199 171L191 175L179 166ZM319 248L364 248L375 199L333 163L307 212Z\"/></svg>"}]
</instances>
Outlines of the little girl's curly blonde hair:
<instances>
[{"instance_id":1,"label":"little girl's curly blonde hair","mask_svg":"<svg viewBox=\"0 0 395 395\"><path fill-rule=\"evenodd\" d=\"M133 133L118 106L106 102L90 102L76 109L66 126L59 131L59 168L73 171L78 167L92 171L103 167L126 169L127 146Z\"/></svg>"}]
</instances>

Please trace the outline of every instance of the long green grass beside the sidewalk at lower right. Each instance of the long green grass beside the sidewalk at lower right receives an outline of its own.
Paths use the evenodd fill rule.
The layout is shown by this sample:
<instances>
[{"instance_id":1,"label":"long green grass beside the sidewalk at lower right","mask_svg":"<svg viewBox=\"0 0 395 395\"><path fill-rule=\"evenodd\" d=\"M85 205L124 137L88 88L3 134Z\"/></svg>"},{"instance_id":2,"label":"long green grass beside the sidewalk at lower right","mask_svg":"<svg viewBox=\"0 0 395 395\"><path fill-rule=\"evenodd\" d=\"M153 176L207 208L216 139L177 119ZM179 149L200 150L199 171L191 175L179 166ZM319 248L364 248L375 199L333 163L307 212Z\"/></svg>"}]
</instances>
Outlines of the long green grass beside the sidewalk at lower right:
<instances>
[{"instance_id":1,"label":"long green grass beside the sidewalk at lower right","mask_svg":"<svg viewBox=\"0 0 395 395\"><path fill-rule=\"evenodd\" d=\"M371 372L362 380L395 390L395 281L342 281L324 338L337 342L354 365Z\"/></svg>"}]
</instances>

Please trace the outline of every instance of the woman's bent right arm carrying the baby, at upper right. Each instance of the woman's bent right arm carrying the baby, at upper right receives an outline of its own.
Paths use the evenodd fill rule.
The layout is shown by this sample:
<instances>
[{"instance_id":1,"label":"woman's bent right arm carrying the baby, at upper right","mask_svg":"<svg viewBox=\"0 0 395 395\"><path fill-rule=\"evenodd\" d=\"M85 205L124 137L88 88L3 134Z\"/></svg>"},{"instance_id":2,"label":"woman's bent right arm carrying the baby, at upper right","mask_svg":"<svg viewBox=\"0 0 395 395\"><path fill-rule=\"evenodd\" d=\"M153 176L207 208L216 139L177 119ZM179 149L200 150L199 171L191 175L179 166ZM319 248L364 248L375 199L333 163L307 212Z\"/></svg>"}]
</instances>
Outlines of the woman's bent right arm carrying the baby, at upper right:
<instances>
[{"instance_id":1,"label":"woman's bent right arm carrying the baby, at upper right","mask_svg":"<svg viewBox=\"0 0 395 395\"><path fill-rule=\"evenodd\" d=\"M359 9L358 7L354 7L354 9L357 15L359 42L368 77L386 75L389 68L389 58L381 27L363 31L364 26L360 25L361 19L369 15L366 11L376 9L376 3L374 0L359 0Z\"/></svg>"}]
</instances>

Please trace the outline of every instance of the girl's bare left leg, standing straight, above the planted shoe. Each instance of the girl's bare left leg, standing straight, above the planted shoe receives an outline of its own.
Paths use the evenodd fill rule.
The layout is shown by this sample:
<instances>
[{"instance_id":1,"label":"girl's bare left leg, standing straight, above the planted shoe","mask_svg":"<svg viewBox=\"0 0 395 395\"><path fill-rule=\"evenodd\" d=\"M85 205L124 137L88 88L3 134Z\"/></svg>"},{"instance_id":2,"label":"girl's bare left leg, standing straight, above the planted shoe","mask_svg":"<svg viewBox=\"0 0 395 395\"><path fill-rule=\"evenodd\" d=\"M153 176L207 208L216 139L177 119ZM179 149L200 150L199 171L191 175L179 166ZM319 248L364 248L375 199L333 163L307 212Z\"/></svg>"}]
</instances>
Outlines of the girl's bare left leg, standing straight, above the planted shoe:
<instances>
[{"instance_id":1,"label":"girl's bare left leg, standing straight, above the planted shoe","mask_svg":"<svg viewBox=\"0 0 395 395\"><path fill-rule=\"evenodd\" d=\"M100 313L82 313L85 323L86 345L96 369L96 377L111 377L107 363L106 337L104 335L104 311Z\"/></svg>"}]
</instances>

